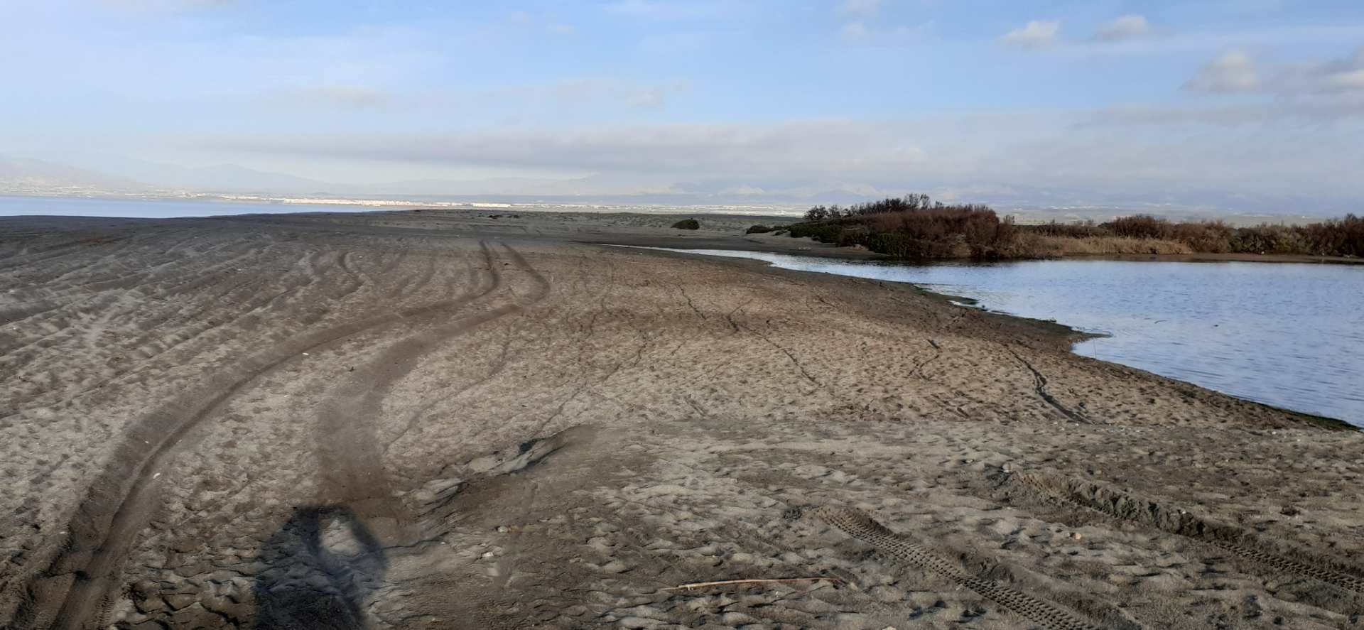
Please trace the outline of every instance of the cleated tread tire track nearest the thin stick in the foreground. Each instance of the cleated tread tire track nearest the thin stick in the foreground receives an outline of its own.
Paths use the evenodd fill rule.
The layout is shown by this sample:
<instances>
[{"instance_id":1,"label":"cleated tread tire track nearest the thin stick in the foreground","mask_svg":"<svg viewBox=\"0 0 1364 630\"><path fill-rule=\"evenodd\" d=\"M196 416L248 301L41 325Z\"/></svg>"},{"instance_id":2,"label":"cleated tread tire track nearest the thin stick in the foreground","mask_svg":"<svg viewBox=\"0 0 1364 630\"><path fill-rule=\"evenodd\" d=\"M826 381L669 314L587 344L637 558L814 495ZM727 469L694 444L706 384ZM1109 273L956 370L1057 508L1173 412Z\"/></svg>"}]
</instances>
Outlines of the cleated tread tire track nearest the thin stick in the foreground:
<instances>
[{"instance_id":1,"label":"cleated tread tire track nearest the thin stick in the foreground","mask_svg":"<svg viewBox=\"0 0 1364 630\"><path fill-rule=\"evenodd\" d=\"M1097 630L1095 626L1080 620L1049 601L1020 593L990 580L968 575L932 551L910 543L903 536L887 529L885 525L881 525L859 510L820 507L814 513L848 536L918 569L937 573L962 586L975 590L981 596L1042 627L1056 630Z\"/></svg>"}]
</instances>

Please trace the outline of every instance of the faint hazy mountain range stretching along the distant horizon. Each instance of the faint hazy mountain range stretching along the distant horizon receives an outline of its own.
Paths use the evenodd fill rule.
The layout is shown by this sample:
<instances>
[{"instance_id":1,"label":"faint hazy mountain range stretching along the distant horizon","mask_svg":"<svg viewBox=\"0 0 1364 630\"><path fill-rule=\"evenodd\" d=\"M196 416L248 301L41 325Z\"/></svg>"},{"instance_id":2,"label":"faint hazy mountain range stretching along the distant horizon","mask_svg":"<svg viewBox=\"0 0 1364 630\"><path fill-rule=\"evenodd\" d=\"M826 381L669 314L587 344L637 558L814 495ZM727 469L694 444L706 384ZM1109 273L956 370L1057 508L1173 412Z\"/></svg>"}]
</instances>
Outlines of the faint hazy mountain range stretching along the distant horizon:
<instances>
[{"instance_id":1,"label":"faint hazy mountain range stretching along the distant horizon","mask_svg":"<svg viewBox=\"0 0 1364 630\"><path fill-rule=\"evenodd\" d=\"M754 205L801 209L810 205L857 203L906 192L928 192L944 200L986 203L1027 220L1108 220L1150 213L1172 218L1229 217L1241 222L1275 218L1333 217L1361 213L1359 199L1230 195L1224 192L1105 194L1026 185L910 185L899 191L862 183L777 183L757 187L737 180L641 181L608 175L554 180L499 177L481 180L408 180L382 184L338 184L235 164L175 166L136 160L106 160L100 168L0 155L0 194L180 194L346 196L355 199L481 200L537 203L602 203L623 206Z\"/></svg>"}]
</instances>

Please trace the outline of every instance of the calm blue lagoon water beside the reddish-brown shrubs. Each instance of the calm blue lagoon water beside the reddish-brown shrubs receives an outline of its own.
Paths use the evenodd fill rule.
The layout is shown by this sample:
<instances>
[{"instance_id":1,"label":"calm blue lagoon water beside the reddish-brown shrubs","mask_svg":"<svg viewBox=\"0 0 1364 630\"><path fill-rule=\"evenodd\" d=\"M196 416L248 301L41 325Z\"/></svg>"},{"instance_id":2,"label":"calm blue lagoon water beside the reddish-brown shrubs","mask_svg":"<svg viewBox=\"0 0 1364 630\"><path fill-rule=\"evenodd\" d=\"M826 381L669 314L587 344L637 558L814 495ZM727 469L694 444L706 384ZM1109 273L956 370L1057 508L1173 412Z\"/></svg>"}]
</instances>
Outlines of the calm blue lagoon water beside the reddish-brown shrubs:
<instances>
[{"instance_id":1,"label":"calm blue lagoon water beside the reddish-brown shrubs","mask_svg":"<svg viewBox=\"0 0 1364 630\"><path fill-rule=\"evenodd\" d=\"M782 254L801 271L913 282L1106 337L1075 352L1364 425L1364 265L1027 260L893 265Z\"/></svg>"}]
</instances>

